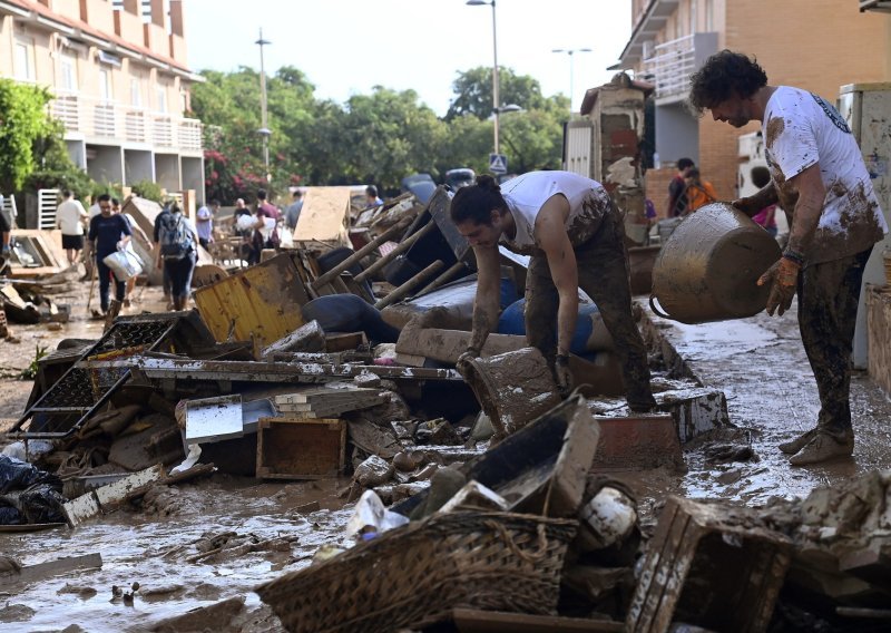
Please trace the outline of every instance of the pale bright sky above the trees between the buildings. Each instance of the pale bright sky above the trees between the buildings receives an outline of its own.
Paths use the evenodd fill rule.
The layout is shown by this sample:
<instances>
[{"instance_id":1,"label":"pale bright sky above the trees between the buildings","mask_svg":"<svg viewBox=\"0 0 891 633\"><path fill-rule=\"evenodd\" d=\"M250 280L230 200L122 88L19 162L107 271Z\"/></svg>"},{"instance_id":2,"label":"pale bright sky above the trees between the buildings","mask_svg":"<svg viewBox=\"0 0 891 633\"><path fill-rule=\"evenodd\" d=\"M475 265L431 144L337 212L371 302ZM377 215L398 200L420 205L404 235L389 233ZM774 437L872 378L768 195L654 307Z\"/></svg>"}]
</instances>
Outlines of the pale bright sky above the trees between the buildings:
<instances>
[{"instance_id":1,"label":"pale bright sky above the trees between the buildings","mask_svg":"<svg viewBox=\"0 0 891 633\"><path fill-rule=\"evenodd\" d=\"M234 70L291 65L306 74L316 97L343 103L380 85L415 90L443 115L458 71L492 65L492 9L464 0L219 0L185 3L188 65ZM630 0L498 0L498 62L539 80L546 96L610 79L630 37ZM571 57L551 49L590 48Z\"/></svg>"}]
</instances>

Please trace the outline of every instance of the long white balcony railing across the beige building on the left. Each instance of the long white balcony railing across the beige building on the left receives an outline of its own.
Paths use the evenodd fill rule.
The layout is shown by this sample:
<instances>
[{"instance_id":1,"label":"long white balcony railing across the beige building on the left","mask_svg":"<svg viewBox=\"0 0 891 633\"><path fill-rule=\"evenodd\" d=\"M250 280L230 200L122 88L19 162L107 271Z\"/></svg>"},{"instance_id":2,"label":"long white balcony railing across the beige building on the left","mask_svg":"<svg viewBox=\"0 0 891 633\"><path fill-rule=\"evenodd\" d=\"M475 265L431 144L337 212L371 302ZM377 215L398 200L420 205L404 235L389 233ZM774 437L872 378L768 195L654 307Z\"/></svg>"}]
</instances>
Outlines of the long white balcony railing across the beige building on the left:
<instances>
[{"instance_id":1,"label":"long white balcony railing across the beige building on the left","mask_svg":"<svg viewBox=\"0 0 891 633\"><path fill-rule=\"evenodd\" d=\"M90 139L145 143L186 152L202 150L202 121L79 95L58 95L50 113L67 133Z\"/></svg>"}]
</instances>

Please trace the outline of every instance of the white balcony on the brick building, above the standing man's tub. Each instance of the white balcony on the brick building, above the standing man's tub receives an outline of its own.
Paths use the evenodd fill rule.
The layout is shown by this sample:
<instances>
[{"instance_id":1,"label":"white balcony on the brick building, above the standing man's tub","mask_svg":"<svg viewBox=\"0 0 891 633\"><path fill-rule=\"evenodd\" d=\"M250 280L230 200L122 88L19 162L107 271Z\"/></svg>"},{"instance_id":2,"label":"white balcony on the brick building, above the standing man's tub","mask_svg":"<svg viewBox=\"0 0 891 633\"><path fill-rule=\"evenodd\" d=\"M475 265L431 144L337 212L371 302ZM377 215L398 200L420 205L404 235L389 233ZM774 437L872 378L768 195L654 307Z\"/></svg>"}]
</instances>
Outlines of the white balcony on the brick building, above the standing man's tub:
<instances>
[{"instance_id":1,"label":"white balcony on the brick building, above the standing man's tub","mask_svg":"<svg viewBox=\"0 0 891 633\"><path fill-rule=\"evenodd\" d=\"M652 75L656 86L656 105L683 101L693 75L712 53L717 51L717 33L694 33L653 48L644 59L644 76Z\"/></svg>"}]
</instances>

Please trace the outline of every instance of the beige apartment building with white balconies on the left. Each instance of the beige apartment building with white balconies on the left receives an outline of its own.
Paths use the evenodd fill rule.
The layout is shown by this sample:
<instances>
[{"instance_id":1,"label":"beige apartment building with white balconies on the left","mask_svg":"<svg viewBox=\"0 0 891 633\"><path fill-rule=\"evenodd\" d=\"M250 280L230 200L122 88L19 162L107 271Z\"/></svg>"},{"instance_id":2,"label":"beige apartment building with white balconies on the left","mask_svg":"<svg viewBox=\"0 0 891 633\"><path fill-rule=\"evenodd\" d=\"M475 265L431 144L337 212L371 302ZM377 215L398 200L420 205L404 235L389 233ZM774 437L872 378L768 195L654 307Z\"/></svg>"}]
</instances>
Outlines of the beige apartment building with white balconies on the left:
<instances>
[{"instance_id":1,"label":"beige apartment building with white balconies on the left","mask_svg":"<svg viewBox=\"0 0 891 633\"><path fill-rule=\"evenodd\" d=\"M72 160L204 199L182 0L0 0L0 76L47 87Z\"/></svg>"}]
</instances>

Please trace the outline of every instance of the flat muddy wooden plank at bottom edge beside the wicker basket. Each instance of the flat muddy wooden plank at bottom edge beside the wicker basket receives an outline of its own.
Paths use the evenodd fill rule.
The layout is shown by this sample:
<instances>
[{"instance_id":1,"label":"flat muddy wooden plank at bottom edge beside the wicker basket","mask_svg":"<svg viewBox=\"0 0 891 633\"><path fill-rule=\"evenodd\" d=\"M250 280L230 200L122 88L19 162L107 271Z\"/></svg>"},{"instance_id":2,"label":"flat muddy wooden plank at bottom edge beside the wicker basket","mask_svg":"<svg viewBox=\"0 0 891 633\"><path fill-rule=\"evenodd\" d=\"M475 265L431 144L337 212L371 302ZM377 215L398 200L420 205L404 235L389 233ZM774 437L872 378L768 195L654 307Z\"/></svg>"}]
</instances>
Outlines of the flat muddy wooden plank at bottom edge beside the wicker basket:
<instances>
[{"instance_id":1,"label":"flat muddy wooden plank at bottom edge beside the wicker basket","mask_svg":"<svg viewBox=\"0 0 891 633\"><path fill-rule=\"evenodd\" d=\"M625 630L621 622L559 617L555 615L530 615L528 613L503 613L476 608L454 608L452 620L461 633L558 633L560 631Z\"/></svg>"}]
</instances>

